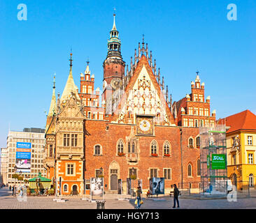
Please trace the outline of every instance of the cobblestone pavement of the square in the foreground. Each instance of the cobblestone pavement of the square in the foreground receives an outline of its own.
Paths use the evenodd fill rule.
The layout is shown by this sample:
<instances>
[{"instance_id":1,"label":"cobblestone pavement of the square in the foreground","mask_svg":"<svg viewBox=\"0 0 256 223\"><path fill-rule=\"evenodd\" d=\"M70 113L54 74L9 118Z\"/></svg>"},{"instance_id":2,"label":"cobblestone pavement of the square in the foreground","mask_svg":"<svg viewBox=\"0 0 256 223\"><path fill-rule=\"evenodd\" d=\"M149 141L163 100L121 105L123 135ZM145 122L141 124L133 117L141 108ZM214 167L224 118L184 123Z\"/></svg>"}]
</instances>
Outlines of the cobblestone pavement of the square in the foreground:
<instances>
[{"instance_id":1,"label":"cobblestone pavement of the square in the foreground","mask_svg":"<svg viewBox=\"0 0 256 223\"><path fill-rule=\"evenodd\" d=\"M81 197L65 197L66 202L57 203L54 197L27 197L27 201L18 201L17 197L11 196L7 187L0 190L0 209L96 209L97 203L81 200ZM117 200L117 195L106 195L106 209L134 209L134 199L129 201ZM173 199L171 197L160 197L157 199L143 198L141 209L172 209ZM188 208L256 208L256 198L237 199L229 202L227 199L196 200L180 199L180 209ZM177 208L178 209L178 208Z\"/></svg>"}]
</instances>

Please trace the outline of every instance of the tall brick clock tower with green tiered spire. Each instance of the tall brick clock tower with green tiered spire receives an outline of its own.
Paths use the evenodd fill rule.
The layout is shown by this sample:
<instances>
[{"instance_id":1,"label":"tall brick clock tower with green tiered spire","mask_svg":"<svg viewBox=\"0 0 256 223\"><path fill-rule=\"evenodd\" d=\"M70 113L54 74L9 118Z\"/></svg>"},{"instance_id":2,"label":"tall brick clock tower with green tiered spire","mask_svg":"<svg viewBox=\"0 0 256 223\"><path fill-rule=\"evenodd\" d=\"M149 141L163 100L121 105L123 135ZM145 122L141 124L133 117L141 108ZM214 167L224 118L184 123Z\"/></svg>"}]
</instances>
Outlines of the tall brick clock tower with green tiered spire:
<instances>
[{"instance_id":1,"label":"tall brick clock tower with green tiered spire","mask_svg":"<svg viewBox=\"0 0 256 223\"><path fill-rule=\"evenodd\" d=\"M125 61L121 55L121 40L115 26L115 14L113 27L108 40L108 54L103 63L104 80L102 105L106 107L106 114L112 114L112 95L117 89L122 88L122 79L125 77Z\"/></svg>"}]
</instances>

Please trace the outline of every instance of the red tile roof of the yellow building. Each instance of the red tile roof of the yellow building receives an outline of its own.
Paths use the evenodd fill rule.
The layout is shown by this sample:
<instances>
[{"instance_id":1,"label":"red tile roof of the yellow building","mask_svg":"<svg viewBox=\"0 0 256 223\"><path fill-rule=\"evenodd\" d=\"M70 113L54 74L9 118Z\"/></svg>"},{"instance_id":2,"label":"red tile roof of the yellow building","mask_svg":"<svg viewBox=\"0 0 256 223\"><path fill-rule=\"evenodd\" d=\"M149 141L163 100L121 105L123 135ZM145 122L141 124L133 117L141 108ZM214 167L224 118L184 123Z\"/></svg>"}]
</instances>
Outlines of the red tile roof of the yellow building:
<instances>
[{"instance_id":1,"label":"red tile roof of the yellow building","mask_svg":"<svg viewBox=\"0 0 256 223\"><path fill-rule=\"evenodd\" d=\"M226 124L230 126L227 133L234 132L236 130L256 130L256 115L249 110L233 114L227 118L222 118L218 121L218 124Z\"/></svg>"}]
</instances>

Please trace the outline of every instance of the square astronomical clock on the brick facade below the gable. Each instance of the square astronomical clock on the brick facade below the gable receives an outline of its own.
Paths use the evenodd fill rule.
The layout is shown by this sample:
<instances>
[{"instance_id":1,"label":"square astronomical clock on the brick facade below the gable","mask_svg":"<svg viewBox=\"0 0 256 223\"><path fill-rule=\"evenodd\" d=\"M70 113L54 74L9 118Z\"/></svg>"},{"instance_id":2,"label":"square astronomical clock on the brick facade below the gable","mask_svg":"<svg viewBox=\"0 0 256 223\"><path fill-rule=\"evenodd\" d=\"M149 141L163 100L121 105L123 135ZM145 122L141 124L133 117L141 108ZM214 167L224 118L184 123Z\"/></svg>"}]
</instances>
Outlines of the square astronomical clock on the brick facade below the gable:
<instances>
[{"instance_id":1,"label":"square astronomical clock on the brick facade below the gable","mask_svg":"<svg viewBox=\"0 0 256 223\"><path fill-rule=\"evenodd\" d=\"M153 118L148 116L137 116L136 118L137 134L153 134Z\"/></svg>"}]
</instances>

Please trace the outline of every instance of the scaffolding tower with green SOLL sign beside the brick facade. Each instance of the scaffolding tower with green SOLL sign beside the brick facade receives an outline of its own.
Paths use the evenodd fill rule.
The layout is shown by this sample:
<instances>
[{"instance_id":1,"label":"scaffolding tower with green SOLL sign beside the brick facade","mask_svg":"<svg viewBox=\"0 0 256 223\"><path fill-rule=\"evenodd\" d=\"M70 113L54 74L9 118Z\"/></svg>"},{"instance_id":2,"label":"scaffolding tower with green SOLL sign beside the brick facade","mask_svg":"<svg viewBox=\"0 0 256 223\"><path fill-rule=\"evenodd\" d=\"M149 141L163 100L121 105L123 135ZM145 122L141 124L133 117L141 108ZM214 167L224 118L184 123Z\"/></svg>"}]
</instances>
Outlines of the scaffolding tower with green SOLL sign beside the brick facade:
<instances>
[{"instance_id":1,"label":"scaffolding tower with green SOLL sign beside the brick facade","mask_svg":"<svg viewBox=\"0 0 256 223\"><path fill-rule=\"evenodd\" d=\"M227 194L226 126L200 127L201 185L203 194Z\"/></svg>"}]
</instances>

